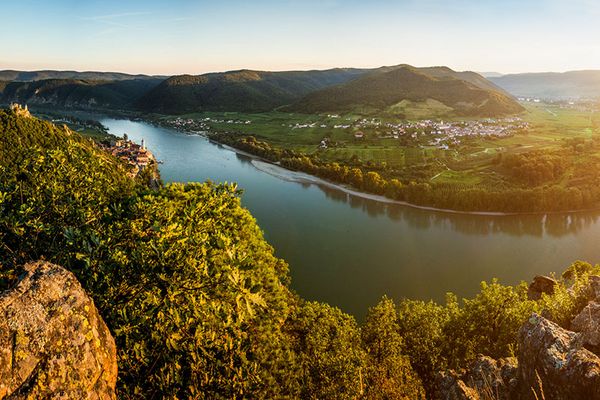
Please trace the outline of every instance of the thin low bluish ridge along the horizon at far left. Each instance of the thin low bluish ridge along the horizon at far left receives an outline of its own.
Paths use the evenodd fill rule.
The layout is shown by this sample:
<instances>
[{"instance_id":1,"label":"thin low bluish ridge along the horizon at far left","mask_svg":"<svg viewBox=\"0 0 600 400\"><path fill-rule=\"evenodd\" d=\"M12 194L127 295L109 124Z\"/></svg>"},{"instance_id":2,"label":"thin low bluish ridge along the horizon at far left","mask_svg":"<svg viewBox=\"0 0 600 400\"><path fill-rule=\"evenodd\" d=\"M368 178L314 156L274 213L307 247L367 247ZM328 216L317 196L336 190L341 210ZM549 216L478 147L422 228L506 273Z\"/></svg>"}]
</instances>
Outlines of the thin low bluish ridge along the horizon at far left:
<instances>
[{"instance_id":1,"label":"thin low bluish ridge along the horizon at far left","mask_svg":"<svg viewBox=\"0 0 600 400\"><path fill-rule=\"evenodd\" d=\"M121 72L98 72L98 71L0 71L0 81L41 81L46 79L82 79L94 81L123 81L130 79L165 79L166 76L131 75Z\"/></svg>"}]
</instances>

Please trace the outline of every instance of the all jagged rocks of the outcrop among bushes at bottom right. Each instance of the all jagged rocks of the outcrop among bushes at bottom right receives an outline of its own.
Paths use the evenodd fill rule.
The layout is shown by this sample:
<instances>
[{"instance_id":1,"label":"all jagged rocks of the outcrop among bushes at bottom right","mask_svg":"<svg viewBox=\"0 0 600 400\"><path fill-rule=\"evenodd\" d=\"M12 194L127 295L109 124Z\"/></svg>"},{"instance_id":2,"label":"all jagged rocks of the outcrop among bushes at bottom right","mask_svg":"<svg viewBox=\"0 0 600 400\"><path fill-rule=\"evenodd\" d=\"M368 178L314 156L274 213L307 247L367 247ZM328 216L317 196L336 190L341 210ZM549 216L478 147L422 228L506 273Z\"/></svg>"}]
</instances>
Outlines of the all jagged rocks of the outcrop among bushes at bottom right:
<instances>
[{"instance_id":1,"label":"all jagged rocks of the outcrop among bushes at bottom right","mask_svg":"<svg viewBox=\"0 0 600 400\"><path fill-rule=\"evenodd\" d=\"M536 277L530 294L543 280ZM544 282L544 291L552 290L547 278ZM519 331L517 357L479 355L467 371L441 372L435 398L600 399L600 276L591 276L586 289L589 302L568 329L531 315Z\"/></svg>"}]
</instances>

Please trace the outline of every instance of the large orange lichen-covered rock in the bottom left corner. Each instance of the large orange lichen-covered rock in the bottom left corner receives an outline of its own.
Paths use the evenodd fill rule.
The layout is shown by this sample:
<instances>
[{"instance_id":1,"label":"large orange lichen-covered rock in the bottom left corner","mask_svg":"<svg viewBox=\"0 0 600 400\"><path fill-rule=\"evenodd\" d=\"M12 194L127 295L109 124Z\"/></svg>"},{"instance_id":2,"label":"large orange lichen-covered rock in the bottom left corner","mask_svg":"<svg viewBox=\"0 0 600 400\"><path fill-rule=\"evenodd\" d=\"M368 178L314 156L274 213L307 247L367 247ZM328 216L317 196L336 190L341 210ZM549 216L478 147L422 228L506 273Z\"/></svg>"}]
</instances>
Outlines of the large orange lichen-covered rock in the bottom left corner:
<instances>
[{"instance_id":1,"label":"large orange lichen-covered rock in the bottom left corner","mask_svg":"<svg viewBox=\"0 0 600 400\"><path fill-rule=\"evenodd\" d=\"M77 279L38 262L0 293L0 399L114 399L114 339Z\"/></svg>"}]
</instances>

